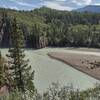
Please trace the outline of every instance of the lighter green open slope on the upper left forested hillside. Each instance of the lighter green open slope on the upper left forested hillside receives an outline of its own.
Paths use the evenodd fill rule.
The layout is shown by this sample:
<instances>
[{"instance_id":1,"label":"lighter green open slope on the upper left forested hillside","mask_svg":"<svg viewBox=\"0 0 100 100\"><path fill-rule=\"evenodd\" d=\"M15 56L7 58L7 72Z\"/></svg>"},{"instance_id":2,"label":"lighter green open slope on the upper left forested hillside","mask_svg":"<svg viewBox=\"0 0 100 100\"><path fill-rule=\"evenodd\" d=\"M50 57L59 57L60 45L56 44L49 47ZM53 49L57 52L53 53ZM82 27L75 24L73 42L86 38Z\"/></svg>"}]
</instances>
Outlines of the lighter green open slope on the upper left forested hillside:
<instances>
[{"instance_id":1,"label":"lighter green open slope on the upper left forested hillside","mask_svg":"<svg viewBox=\"0 0 100 100\"><path fill-rule=\"evenodd\" d=\"M18 23L25 24L28 28L31 28L34 23L44 24L45 19L34 14L32 11L16 11L11 9L0 9L0 15L2 16L2 12L7 12L10 17L16 17Z\"/></svg>"}]
</instances>

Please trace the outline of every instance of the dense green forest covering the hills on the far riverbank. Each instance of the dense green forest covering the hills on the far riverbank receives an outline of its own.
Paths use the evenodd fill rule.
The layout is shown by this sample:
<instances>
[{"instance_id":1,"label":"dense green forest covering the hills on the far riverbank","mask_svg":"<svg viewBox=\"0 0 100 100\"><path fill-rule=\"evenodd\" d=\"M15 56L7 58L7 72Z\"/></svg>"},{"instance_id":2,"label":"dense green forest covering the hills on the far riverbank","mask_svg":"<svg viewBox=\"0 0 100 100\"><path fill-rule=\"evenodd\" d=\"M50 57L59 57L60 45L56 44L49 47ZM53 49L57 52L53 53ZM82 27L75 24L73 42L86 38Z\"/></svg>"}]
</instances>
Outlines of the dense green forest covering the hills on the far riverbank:
<instances>
[{"instance_id":1,"label":"dense green forest covering the hills on the far riverbank","mask_svg":"<svg viewBox=\"0 0 100 100\"><path fill-rule=\"evenodd\" d=\"M31 11L0 9L0 47L11 46L12 19L25 36L25 47L100 47L100 14L59 11L46 7Z\"/></svg>"}]
</instances>

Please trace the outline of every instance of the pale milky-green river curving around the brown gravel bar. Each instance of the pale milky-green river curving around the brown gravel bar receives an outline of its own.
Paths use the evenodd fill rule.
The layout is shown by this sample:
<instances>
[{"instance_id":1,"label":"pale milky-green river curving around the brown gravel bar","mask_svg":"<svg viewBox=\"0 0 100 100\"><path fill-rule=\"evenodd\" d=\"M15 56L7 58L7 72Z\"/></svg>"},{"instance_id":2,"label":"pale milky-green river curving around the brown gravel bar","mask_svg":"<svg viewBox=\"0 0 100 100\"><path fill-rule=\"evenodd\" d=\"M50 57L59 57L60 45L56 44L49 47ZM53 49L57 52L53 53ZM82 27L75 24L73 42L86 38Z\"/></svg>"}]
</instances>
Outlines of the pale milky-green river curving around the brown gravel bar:
<instances>
[{"instance_id":1,"label":"pale milky-green river curving around the brown gravel bar","mask_svg":"<svg viewBox=\"0 0 100 100\"><path fill-rule=\"evenodd\" d=\"M1 49L3 56L7 54L7 49ZM43 93L52 84L59 82L61 86L73 84L75 88L85 90L91 88L98 80L64 64L51 59L48 52L68 52L65 48L44 48L39 50L26 50L26 57L30 60L30 65L35 71L34 84L39 92Z\"/></svg>"}]
</instances>

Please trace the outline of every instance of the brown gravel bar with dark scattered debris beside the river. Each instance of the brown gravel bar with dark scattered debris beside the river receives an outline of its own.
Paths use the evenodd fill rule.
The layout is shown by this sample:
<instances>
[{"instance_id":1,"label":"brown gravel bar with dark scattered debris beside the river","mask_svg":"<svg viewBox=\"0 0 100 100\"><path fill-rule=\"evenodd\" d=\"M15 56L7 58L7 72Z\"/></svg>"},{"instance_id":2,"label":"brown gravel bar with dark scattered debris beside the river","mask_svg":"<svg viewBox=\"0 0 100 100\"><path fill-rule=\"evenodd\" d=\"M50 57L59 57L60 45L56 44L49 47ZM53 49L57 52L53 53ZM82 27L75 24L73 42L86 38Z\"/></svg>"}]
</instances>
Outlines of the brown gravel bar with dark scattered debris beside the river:
<instances>
[{"instance_id":1,"label":"brown gravel bar with dark scattered debris beside the river","mask_svg":"<svg viewBox=\"0 0 100 100\"><path fill-rule=\"evenodd\" d=\"M71 51L51 52L48 56L62 61L71 67L100 80L100 54L99 52Z\"/></svg>"}]
</instances>

